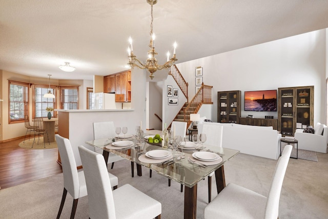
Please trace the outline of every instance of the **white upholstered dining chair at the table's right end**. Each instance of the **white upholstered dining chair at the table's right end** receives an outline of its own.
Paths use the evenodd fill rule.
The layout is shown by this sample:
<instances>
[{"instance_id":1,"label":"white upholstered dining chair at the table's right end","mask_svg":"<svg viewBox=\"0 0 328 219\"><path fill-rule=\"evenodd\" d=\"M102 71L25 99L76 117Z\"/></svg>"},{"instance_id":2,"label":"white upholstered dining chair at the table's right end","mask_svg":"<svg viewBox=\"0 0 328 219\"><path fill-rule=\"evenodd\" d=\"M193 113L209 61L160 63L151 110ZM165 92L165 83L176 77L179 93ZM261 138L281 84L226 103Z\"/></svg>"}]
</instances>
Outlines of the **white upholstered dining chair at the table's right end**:
<instances>
[{"instance_id":1,"label":"white upholstered dining chair at the table's right end","mask_svg":"<svg viewBox=\"0 0 328 219\"><path fill-rule=\"evenodd\" d=\"M204 209L204 218L277 219L283 178L293 146L286 145L276 165L268 197L228 184Z\"/></svg>"}]
</instances>

